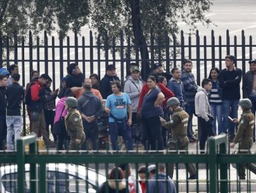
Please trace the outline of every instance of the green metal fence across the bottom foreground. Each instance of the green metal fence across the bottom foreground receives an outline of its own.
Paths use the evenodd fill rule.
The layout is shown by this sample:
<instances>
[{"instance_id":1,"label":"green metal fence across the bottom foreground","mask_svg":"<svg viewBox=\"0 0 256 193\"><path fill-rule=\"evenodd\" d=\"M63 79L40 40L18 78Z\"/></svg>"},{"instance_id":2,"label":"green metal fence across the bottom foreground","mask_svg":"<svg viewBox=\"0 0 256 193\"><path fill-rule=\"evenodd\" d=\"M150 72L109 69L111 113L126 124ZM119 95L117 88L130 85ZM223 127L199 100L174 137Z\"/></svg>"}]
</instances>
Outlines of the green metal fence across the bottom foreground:
<instances>
[{"instance_id":1,"label":"green metal fence across the bottom foreground","mask_svg":"<svg viewBox=\"0 0 256 193\"><path fill-rule=\"evenodd\" d=\"M25 152L25 146L28 144L29 152ZM168 150L154 153L135 151L115 154L64 154L39 152L36 136L24 136L17 141L17 153L0 154L0 192L96 192L101 183L106 181L105 176L109 170L120 163L127 163L133 167L132 174L135 179L138 179L137 171L140 165L147 167L155 164L158 168L161 164L168 173L168 164L174 163L176 170L173 180L176 192L255 192L255 181L250 177L248 170L247 180L239 180L238 177L234 180L237 173L230 172L230 163L253 163L256 160L255 154L228 154L227 145L226 134L221 134L208 140L206 154L170 154ZM185 163L185 169L179 168L180 163ZM188 163L196 165L198 179L188 179ZM126 169L128 174L128 165ZM147 174L147 185L148 177ZM126 178L126 181L128 185L129 179ZM136 180L137 185L138 183Z\"/></svg>"}]
</instances>

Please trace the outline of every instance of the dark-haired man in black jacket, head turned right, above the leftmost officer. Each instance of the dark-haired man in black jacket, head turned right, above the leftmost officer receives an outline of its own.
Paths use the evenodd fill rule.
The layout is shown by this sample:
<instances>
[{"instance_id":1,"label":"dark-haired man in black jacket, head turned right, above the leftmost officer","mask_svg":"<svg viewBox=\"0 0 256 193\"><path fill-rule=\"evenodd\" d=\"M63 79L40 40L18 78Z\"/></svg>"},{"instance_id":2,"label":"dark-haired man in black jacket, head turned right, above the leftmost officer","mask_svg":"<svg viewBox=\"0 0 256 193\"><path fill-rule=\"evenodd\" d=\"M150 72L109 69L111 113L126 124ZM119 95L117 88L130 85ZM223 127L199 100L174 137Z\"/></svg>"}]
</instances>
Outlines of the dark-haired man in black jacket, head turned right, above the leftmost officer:
<instances>
[{"instance_id":1,"label":"dark-haired man in black jacket, head turned right, above the leftmost officer","mask_svg":"<svg viewBox=\"0 0 256 193\"><path fill-rule=\"evenodd\" d=\"M66 79L66 88L82 87L84 83L84 74L82 74L77 63L71 63L66 68L68 77Z\"/></svg>"}]
</instances>

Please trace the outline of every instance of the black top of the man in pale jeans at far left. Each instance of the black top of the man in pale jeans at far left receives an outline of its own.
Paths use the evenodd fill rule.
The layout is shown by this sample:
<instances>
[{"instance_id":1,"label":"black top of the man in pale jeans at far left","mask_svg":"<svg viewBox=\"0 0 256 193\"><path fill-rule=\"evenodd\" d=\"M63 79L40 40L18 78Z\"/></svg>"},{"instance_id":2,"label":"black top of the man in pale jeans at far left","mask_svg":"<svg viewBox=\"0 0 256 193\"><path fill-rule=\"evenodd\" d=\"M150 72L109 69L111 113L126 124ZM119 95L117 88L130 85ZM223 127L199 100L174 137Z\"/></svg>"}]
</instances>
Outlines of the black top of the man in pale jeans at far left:
<instances>
[{"instance_id":1,"label":"black top of the man in pale jeans at far left","mask_svg":"<svg viewBox=\"0 0 256 193\"><path fill-rule=\"evenodd\" d=\"M20 116L21 115L21 101L24 99L24 87L19 83L12 83L6 89L7 97L7 115Z\"/></svg>"}]
</instances>

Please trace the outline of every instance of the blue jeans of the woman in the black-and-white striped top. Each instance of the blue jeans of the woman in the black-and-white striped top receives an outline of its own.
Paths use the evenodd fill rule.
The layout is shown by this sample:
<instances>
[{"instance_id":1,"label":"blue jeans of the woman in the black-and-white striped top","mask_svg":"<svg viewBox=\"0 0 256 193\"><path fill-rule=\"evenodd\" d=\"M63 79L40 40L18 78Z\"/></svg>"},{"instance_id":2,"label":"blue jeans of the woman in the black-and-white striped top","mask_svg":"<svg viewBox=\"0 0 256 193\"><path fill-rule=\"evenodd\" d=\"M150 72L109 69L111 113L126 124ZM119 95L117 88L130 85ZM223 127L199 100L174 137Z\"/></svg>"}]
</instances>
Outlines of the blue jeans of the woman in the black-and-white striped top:
<instances>
[{"instance_id":1,"label":"blue jeans of the woman in the black-and-white striped top","mask_svg":"<svg viewBox=\"0 0 256 193\"><path fill-rule=\"evenodd\" d=\"M210 103L210 110L214 118L214 121L212 122L213 132L214 134L217 134L216 122L218 121L218 134L220 134L222 125L222 103Z\"/></svg>"}]
</instances>

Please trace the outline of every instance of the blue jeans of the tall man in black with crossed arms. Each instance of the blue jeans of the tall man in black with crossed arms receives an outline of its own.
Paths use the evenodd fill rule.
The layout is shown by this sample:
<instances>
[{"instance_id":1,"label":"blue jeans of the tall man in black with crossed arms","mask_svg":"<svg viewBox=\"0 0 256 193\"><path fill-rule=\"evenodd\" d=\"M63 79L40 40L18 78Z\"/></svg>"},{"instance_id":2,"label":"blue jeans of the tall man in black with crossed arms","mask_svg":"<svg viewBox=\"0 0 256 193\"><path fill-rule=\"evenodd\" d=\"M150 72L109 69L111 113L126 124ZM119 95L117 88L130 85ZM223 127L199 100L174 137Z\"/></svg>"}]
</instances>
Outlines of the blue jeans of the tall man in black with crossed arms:
<instances>
[{"instance_id":1,"label":"blue jeans of the tall man in black with crossed arms","mask_svg":"<svg viewBox=\"0 0 256 193\"><path fill-rule=\"evenodd\" d=\"M231 116L232 119L237 118L239 100L223 100L223 122L221 132L227 132L229 134L235 134L235 123L232 123L228 116ZM230 127L228 128L228 123Z\"/></svg>"}]
</instances>

